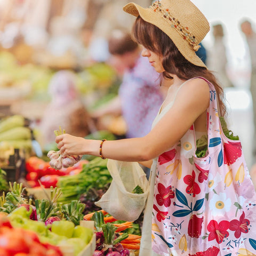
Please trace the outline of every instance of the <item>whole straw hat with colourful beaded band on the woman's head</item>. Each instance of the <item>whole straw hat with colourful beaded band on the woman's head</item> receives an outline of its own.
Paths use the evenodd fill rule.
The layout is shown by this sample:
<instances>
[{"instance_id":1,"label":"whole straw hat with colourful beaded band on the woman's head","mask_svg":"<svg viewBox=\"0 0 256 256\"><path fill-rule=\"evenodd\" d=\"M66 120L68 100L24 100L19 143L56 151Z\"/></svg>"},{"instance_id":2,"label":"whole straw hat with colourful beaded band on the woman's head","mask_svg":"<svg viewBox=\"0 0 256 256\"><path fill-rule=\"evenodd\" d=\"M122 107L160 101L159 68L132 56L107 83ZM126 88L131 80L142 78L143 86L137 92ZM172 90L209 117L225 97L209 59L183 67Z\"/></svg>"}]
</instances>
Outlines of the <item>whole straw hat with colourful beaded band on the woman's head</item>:
<instances>
[{"instance_id":1,"label":"whole straw hat with colourful beaded band on the woman's head","mask_svg":"<svg viewBox=\"0 0 256 256\"><path fill-rule=\"evenodd\" d=\"M205 67L196 51L210 26L204 14L189 0L155 1L149 8L129 3L123 10L135 17L140 15L143 20L157 26L172 39L189 62Z\"/></svg>"}]
</instances>

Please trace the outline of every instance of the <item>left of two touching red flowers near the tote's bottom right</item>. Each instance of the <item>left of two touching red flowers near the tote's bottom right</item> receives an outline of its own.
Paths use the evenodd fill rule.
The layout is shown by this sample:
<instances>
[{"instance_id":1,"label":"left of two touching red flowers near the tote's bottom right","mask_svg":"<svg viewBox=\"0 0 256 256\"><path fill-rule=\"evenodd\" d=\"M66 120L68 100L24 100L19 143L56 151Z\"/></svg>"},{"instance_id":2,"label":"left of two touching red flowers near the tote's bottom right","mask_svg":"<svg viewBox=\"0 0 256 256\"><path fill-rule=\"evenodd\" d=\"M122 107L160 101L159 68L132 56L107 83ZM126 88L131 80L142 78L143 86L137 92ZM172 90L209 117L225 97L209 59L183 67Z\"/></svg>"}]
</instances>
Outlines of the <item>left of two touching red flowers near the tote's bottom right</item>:
<instances>
[{"instance_id":1,"label":"left of two touching red flowers near the tote's bottom right","mask_svg":"<svg viewBox=\"0 0 256 256\"><path fill-rule=\"evenodd\" d=\"M227 220L222 220L219 224L215 220L211 220L207 225L207 230L210 232L208 236L208 241L216 239L217 243L223 242L223 239L229 236L227 229L230 224Z\"/></svg>"}]
</instances>

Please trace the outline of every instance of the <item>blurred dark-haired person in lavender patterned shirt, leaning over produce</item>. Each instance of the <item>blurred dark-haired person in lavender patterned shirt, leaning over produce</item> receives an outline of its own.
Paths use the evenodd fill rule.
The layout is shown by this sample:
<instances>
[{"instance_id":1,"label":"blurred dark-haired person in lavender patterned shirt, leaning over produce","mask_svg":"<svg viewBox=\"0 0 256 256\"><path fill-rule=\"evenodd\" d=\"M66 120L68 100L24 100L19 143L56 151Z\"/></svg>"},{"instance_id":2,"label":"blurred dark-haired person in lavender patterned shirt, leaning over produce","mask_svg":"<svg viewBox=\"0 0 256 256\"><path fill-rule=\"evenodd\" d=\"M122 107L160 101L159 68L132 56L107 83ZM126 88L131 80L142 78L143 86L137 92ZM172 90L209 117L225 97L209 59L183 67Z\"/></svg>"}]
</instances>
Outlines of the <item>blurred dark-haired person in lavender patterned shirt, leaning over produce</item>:
<instances>
[{"instance_id":1,"label":"blurred dark-haired person in lavender patterned shirt, leaning over produce","mask_svg":"<svg viewBox=\"0 0 256 256\"><path fill-rule=\"evenodd\" d=\"M106 114L122 115L126 122L127 138L146 135L163 102L159 74L150 66L147 58L141 57L141 48L130 33L113 30L108 49L109 63L121 76L118 96L95 110L94 117Z\"/></svg>"}]
</instances>

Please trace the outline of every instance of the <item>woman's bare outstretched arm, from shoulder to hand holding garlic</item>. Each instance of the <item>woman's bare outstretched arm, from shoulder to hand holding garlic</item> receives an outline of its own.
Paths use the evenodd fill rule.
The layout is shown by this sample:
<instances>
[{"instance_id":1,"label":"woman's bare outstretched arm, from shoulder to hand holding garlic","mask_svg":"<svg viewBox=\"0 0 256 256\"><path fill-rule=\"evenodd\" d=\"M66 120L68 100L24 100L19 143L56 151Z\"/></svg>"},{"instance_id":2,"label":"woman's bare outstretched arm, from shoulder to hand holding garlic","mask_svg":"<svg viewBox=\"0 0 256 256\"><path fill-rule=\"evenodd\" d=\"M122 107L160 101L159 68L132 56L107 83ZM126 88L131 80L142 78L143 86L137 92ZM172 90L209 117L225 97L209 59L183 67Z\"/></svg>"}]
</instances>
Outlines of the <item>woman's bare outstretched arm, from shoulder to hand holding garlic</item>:
<instances>
[{"instance_id":1,"label":"woman's bare outstretched arm, from shoulder to hand holding garlic","mask_svg":"<svg viewBox=\"0 0 256 256\"><path fill-rule=\"evenodd\" d=\"M172 147L189 130L209 106L209 86L203 79L193 79L183 86L172 108L155 127L142 138L105 141L102 155L119 161L149 161ZM56 138L63 156L99 156L99 140L85 140L62 134Z\"/></svg>"}]
</instances>

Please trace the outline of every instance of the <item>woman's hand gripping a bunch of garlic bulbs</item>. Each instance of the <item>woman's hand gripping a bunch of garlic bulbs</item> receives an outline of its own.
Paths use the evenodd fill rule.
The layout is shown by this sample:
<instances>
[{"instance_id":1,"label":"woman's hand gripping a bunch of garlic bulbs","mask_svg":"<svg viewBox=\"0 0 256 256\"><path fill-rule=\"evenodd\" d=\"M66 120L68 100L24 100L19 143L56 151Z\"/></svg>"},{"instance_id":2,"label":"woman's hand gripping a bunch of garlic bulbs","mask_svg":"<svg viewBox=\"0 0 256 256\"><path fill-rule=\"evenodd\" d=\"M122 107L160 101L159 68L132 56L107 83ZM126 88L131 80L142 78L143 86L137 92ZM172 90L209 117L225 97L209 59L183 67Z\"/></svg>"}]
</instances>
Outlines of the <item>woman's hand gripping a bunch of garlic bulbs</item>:
<instances>
[{"instance_id":1,"label":"woman's hand gripping a bunch of garlic bulbs","mask_svg":"<svg viewBox=\"0 0 256 256\"><path fill-rule=\"evenodd\" d=\"M56 137L55 142L57 143L60 154L63 157L73 155L84 155L86 147L86 139L82 137L75 137L68 133L61 134Z\"/></svg>"}]
</instances>

